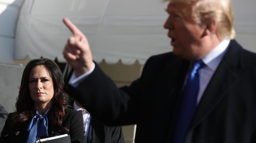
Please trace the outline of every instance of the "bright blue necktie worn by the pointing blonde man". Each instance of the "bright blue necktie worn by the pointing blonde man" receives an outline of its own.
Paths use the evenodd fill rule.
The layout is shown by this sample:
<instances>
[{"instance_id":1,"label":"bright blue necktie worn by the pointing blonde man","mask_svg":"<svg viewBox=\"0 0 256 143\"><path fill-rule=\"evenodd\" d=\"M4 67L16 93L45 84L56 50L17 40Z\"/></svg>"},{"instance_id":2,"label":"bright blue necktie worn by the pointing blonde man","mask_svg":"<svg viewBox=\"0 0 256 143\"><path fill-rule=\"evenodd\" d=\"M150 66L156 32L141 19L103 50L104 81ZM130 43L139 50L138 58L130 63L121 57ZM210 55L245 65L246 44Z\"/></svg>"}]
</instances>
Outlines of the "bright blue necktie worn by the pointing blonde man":
<instances>
[{"instance_id":1,"label":"bright blue necktie worn by the pointing blonde man","mask_svg":"<svg viewBox=\"0 0 256 143\"><path fill-rule=\"evenodd\" d=\"M173 143L183 143L189 128L189 124L194 115L197 95L199 91L198 70L204 66L202 60L192 62L192 68L189 70L186 85L183 90L183 97L180 102L180 109L176 120Z\"/></svg>"}]
</instances>

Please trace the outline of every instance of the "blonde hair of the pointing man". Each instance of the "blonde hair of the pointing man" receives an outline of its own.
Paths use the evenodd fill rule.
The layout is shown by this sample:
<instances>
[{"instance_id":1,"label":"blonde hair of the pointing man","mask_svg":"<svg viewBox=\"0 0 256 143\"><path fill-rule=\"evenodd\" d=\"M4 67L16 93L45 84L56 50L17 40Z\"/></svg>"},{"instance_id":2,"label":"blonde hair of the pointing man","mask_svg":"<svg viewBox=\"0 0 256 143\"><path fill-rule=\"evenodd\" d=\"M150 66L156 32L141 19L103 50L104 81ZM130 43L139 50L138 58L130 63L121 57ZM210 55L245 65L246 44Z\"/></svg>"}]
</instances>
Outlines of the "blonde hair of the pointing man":
<instances>
[{"instance_id":1,"label":"blonde hair of the pointing man","mask_svg":"<svg viewBox=\"0 0 256 143\"><path fill-rule=\"evenodd\" d=\"M164 0L170 3L183 2L191 5L192 19L198 24L217 22L221 38L234 39L233 12L230 0Z\"/></svg>"}]
</instances>

